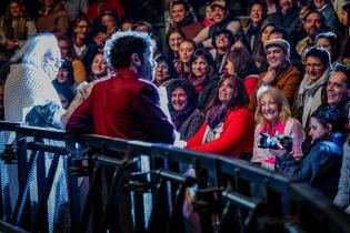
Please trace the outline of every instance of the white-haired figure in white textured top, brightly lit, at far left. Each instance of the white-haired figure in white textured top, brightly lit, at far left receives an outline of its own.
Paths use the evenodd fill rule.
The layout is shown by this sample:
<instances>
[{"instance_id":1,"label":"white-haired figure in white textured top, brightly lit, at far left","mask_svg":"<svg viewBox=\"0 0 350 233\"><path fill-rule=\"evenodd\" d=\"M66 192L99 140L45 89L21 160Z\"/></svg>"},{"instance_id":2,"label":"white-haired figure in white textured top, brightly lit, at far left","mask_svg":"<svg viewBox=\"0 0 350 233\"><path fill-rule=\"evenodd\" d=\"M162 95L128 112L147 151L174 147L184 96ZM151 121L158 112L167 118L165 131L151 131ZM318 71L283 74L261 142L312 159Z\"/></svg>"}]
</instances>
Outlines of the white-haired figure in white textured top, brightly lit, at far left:
<instances>
[{"instance_id":1,"label":"white-haired figure in white textured top, brightly lit, at far left","mask_svg":"<svg viewBox=\"0 0 350 233\"><path fill-rule=\"evenodd\" d=\"M30 108L50 101L59 109L62 108L51 83L61 65L61 53L56 37L51 33L39 33L29 40L26 49L22 62L12 65L4 83L7 121L24 122ZM54 114L50 123L60 126L59 116Z\"/></svg>"}]
</instances>

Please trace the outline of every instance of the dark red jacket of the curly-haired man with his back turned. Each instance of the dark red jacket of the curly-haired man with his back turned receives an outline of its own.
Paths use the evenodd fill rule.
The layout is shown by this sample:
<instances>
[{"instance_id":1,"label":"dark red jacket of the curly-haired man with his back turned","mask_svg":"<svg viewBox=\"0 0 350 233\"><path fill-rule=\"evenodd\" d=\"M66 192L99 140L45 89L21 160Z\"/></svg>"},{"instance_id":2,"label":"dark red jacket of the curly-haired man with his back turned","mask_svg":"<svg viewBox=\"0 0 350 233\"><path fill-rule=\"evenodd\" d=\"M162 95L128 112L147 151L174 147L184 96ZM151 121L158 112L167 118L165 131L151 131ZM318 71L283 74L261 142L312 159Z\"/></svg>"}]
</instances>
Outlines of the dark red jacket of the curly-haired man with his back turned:
<instances>
[{"instance_id":1,"label":"dark red jacket of the curly-haired man with his back turned","mask_svg":"<svg viewBox=\"0 0 350 233\"><path fill-rule=\"evenodd\" d=\"M173 125L160 109L156 87L129 69L97 83L72 113L67 132L172 143Z\"/></svg>"}]
</instances>

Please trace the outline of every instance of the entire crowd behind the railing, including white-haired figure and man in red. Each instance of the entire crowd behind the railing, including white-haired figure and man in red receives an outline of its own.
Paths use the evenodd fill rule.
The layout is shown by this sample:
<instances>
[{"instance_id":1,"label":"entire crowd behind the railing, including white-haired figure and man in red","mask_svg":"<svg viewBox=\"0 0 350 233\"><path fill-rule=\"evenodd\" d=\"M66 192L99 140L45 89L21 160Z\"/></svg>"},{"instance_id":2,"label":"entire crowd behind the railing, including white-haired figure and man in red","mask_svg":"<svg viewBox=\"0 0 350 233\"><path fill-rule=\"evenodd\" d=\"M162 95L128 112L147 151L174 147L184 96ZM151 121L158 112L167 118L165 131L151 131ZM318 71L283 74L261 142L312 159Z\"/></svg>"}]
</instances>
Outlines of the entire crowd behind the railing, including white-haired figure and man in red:
<instances>
[{"instance_id":1,"label":"entire crowd behind the railing, including white-haired figure and man in red","mask_svg":"<svg viewBox=\"0 0 350 233\"><path fill-rule=\"evenodd\" d=\"M200 19L170 1L161 37L120 1L42 0L30 17L9 0L1 115L249 160L350 213L350 1L253 1L244 24L228 3Z\"/></svg>"}]
</instances>

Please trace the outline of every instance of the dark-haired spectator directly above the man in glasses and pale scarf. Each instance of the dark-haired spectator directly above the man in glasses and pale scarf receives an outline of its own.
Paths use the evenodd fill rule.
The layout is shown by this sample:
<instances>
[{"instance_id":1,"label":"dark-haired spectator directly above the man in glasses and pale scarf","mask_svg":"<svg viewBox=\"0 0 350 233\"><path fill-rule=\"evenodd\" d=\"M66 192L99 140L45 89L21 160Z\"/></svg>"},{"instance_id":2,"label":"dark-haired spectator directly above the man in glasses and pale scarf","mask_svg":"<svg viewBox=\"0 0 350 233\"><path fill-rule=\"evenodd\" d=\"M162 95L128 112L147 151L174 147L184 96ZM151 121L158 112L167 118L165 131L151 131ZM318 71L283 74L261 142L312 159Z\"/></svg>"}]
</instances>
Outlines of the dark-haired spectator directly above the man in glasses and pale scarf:
<instances>
[{"instance_id":1,"label":"dark-haired spectator directly above the man in glasses and pale scarf","mask_svg":"<svg viewBox=\"0 0 350 233\"><path fill-rule=\"evenodd\" d=\"M340 41L333 32L323 32L316 36L316 44L323 47L331 57L332 67L336 65L339 58Z\"/></svg>"}]
</instances>

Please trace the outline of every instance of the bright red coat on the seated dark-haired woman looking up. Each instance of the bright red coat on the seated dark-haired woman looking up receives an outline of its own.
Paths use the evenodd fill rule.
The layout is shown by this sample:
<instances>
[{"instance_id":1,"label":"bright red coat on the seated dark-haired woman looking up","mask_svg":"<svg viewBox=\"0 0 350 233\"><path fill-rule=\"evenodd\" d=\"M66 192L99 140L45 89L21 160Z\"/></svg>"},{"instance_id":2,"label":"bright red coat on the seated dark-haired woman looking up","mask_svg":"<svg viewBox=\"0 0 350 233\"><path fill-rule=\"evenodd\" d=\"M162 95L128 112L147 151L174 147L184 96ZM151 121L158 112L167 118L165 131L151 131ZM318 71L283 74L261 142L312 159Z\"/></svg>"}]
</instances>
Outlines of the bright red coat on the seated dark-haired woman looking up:
<instances>
[{"instance_id":1,"label":"bright red coat on the seated dark-haired woman looking up","mask_svg":"<svg viewBox=\"0 0 350 233\"><path fill-rule=\"evenodd\" d=\"M220 136L202 144L208 124L204 122L199 131L187 142L187 148L209 153L233 155L252 152L254 138L253 119L247 107L230 110L223 121Z\"/></svg>"}]
</instances>

